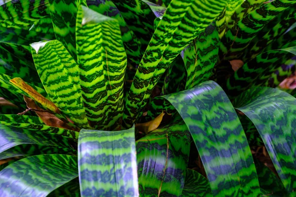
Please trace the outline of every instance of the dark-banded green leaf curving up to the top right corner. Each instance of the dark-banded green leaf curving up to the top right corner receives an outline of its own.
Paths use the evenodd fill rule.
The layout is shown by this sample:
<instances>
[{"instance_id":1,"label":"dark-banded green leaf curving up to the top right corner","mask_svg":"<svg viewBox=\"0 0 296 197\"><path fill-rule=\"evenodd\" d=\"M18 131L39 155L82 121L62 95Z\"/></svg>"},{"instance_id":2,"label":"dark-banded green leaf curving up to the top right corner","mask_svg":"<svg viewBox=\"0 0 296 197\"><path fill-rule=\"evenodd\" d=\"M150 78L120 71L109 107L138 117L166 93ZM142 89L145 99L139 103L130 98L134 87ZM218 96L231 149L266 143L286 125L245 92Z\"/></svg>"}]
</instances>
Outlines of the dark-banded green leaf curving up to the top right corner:
<instances>
[{"instance_id":1,"label":"dark-banded green leaf curving up to the top right corner","mask_svg":"<svg viewBox=\"0 0 296 197\"><path fill-rule=\"evenodd\" d=\"M289 8L289 6L293 6L294 3L296 3L295 0L274 0L270 3L265 3L245 16L228 30L222 38L220 59L240 59L244 55L244 50L250 41L259 31L280 12Z\"/></svg>"}]
</instances>

